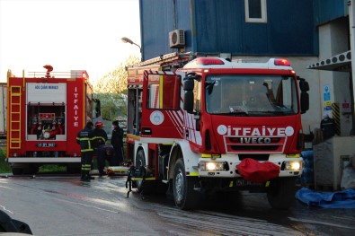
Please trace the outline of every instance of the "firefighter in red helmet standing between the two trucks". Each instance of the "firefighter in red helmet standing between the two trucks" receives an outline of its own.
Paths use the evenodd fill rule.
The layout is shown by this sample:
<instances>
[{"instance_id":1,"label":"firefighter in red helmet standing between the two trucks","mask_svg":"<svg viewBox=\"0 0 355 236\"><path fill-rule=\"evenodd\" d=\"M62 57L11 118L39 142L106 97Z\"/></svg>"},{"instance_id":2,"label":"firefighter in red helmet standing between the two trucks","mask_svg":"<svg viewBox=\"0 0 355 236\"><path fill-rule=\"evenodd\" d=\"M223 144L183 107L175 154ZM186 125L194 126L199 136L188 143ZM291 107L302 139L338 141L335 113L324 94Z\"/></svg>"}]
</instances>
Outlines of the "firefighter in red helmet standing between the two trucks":
<instances>
[{"instance_id":1,"label":"firefighter in red helmet standing between the two trucks","mask_svg":"<svg viewBox=\"0 0 355 236\"><path fill-rule=\"evenodd\" d=\"M102 121L96 121L95 128L93 129L93 149L97 152L97 161L102 160L103 147L107 141L107 133L103 130ZM104 175L103 169L99 168L99 175L102 177Z\"/></svg>"}]
</instances>

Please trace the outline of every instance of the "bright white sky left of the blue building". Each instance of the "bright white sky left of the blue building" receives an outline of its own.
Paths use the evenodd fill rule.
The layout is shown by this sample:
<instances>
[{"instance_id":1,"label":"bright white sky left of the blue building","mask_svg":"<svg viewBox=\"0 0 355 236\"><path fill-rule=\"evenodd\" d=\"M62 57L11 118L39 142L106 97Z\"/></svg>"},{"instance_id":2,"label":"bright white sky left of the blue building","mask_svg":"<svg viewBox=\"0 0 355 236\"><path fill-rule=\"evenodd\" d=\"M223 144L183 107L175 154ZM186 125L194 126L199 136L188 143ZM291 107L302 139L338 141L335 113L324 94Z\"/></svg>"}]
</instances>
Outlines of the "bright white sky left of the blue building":
<instances>
[{"instance_id":1,"label":"bright white sky left of the blue building","mask_svg":"<svg viewBox=\"0 0 355 236\"><path fill-rule=\"evenodd\" d=\"M86 70L90 80L140 57L138 0L0 0L0 82L6 73Z\"/></svg>"}]
</instances>

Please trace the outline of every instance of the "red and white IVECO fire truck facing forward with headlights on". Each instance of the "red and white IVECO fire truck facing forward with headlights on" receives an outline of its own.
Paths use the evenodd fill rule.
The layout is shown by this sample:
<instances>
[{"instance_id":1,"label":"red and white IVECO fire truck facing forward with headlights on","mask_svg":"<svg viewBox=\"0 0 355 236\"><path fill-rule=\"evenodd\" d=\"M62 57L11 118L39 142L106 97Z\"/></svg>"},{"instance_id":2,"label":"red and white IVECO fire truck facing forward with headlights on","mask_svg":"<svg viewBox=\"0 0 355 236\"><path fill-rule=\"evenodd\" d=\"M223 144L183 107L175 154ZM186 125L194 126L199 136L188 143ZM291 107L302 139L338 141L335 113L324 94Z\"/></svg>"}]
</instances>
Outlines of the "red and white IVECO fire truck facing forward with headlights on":
<instances>
[{"instance_id":1,"label":"red and white IVECO fire truck facing forward with headlights on","mask_svg":"<svg viewBox=\"0 0 355 236\"><path fill-rule=\"evenodd\" d=\"M179 57L173 64L184 63ZM167 67L174 66L128 71L133 188L171 189L181 209L217 193L232 204L240 190L266 192L272 207L288 208L302 173L308 83L286 59L197 57L157 71Z\"/></svg>"}]
</instances>

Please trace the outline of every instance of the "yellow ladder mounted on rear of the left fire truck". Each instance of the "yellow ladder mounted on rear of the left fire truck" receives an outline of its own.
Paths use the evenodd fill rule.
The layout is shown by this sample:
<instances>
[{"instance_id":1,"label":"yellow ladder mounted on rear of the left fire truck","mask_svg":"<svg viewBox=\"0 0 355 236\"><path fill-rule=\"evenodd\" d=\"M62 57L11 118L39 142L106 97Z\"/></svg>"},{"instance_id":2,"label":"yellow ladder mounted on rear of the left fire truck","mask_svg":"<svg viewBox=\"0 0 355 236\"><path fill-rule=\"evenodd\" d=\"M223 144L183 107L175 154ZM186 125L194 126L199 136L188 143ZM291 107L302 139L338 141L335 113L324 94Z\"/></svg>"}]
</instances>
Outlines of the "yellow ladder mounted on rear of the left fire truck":
<instances>
[{"instance_id":1,"label":"yellow ladder mounted on rear of the left fire truck","mask_svg":"<svg viewBox=\"0 0 355 236\"><path fill-rule=\"evenodd\" d=\"M10 148L21 148L21 86L10 87Z\"/></svg>"}]
</instances>

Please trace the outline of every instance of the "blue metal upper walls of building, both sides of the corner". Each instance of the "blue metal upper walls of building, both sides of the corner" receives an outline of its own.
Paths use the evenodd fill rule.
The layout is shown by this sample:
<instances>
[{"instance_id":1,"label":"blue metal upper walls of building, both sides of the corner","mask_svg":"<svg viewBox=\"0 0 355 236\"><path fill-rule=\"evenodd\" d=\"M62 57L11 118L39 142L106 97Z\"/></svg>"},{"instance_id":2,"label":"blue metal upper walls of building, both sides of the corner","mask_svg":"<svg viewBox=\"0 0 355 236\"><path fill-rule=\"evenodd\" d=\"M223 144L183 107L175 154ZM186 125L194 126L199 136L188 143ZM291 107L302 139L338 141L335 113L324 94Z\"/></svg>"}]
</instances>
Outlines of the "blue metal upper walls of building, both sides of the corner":
<instances>
[{"instance_id":1,"label":"blue metal upper walls of building, both sides of the corner","mask_svg":"<svg viewBox=\"0 0 355 236\"><path fill-rule=\"evenodd\" d=\"M140 0L140 7L144 60L177 50L169 48L174 29L186 32L186 51L202 54L318 53L313 0L268 0L267 23L245 22L244 0Z\"/></svg>"}]
</instances>

